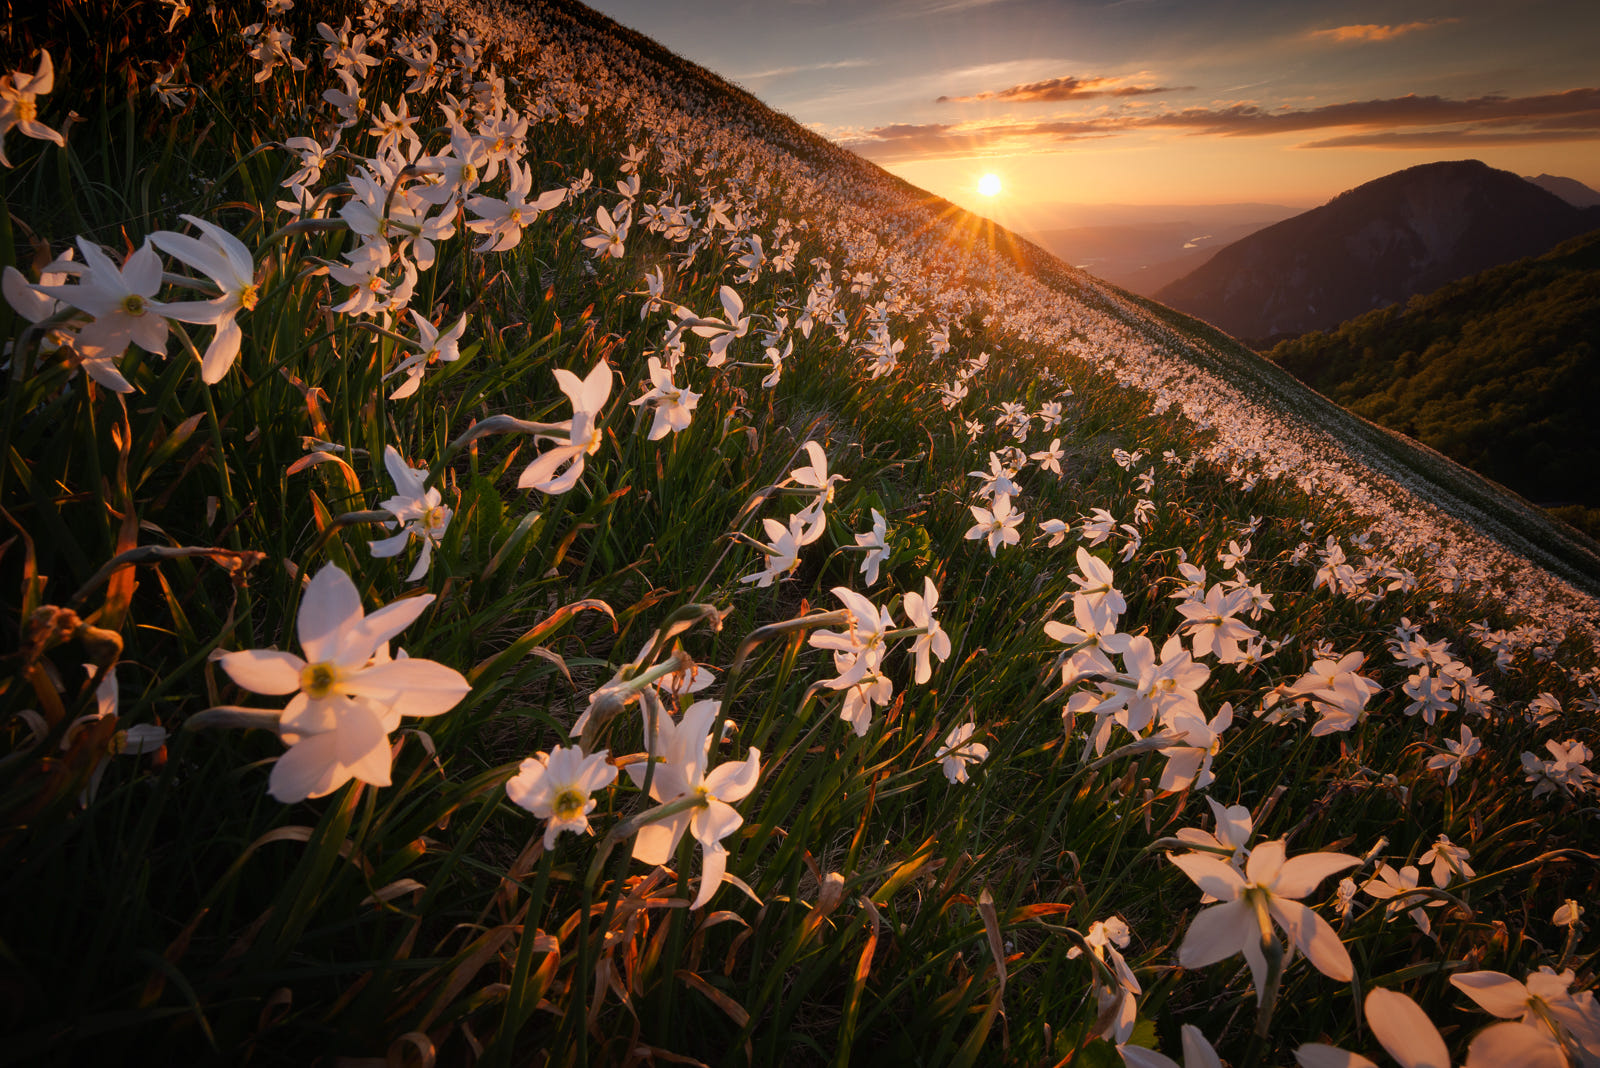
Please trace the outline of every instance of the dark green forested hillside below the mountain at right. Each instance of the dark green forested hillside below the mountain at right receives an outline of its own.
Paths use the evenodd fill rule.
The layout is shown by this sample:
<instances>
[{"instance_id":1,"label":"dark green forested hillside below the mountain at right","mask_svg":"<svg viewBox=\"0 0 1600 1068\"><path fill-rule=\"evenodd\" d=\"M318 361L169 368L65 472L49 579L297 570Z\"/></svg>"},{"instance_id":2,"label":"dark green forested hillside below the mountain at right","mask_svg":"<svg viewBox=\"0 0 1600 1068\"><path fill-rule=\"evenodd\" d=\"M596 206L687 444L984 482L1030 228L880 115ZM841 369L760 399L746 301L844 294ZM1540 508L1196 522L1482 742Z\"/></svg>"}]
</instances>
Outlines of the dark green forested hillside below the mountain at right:
<instances>
[{"instance_id":1,"label":"dark green forested hillside below the mountain at right","mask_svg":"<svg viewBox=\"0 0 1600 1068\"><path fill-rule=\"evenodd\" d=\"M1600 505L1600 232L1280 342L1312 389L1541 504Z\"/></svg>"}]
</instances>

